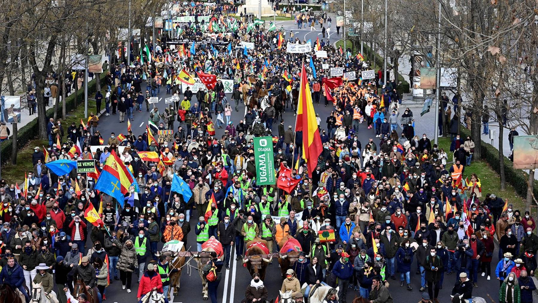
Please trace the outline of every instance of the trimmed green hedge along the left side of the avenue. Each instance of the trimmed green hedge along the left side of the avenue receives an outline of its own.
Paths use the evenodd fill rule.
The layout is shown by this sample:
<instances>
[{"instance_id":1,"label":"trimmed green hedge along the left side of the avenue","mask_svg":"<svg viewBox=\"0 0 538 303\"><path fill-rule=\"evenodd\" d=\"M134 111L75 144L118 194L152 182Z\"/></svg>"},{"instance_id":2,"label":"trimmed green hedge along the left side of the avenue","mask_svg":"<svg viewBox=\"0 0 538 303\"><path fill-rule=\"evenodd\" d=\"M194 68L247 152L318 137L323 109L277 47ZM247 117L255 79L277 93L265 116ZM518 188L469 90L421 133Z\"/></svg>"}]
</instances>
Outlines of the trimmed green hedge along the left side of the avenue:
<instances>
[{"instance_id":1,"label":"trimmed green hedge along the left side of the avenue","mask_svg":"<svg viewBox=\"0 0 538 303\"><path fill-rule=\"evenodd\" d=\"M105 85L104 77L106 73L101 73L101 87ZM91 96L95 93L95 80L97 78L94 78L94 80L91 80L88 82L88 96ZM78 98L77 102L80 104L81 102L84 102L84 89L79 89L77 92ZM66 98L66 111L72 110L75 108L75 94L71 94ZM62 103L58 104L58 112L61 116L62 111ZM54 117L54 107L49 108L46 111L46 122L48 123L48 119ZM17 131L17 150L22 149L30 140L36 139L39 135L39 127L38 127L38 118L33 119L28 124L24 125L22 128L18 129ZM5 140L0 144L0 152L2 153L2 163L11 160L13 156L17 157L17 155L12 154L12 144L13 139L10 137L8 140Z\"/></svg>"}]
</instances>

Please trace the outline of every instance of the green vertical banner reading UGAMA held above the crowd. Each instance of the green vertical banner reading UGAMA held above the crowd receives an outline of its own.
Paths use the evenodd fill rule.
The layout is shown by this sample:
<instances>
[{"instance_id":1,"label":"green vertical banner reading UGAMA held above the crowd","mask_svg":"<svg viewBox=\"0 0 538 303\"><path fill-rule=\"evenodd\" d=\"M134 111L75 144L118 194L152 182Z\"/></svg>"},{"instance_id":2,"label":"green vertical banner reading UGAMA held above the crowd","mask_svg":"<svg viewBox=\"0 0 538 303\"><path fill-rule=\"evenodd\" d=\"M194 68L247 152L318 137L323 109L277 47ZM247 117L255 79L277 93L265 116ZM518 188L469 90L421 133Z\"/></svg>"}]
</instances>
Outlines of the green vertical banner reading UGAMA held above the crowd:
<instances>
[{"instance_id":1,"label":"green vertical banner reading UGAMA held above the crowd","mask_svg":"<svg viewBox=\"0 0 538 303\"><path fill-rule=\"evenodd\" d=\"M256 184L273 185L274 175L273 137L254 138L254 159L256 159Z\"/></svg>"}]
</instances>

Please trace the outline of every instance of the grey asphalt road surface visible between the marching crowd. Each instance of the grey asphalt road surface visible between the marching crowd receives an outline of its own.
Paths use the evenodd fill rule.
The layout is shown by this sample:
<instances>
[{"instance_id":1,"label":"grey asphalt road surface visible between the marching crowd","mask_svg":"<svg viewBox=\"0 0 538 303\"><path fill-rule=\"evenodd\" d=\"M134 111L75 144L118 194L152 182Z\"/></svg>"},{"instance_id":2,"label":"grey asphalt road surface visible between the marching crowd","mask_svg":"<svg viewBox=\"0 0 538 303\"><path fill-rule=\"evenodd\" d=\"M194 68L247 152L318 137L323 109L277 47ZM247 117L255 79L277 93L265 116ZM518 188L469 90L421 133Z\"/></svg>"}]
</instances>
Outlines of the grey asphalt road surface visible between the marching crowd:
<instances>
[{"instance_id":1,"label":"grey asphalt road surface visible between the marching crowd","mask_svg":"<svg viewBox=\"0 0 538 303\"><path fill-rule=\"evenodd\" d=\"M321 39L321 32L320 31L310 31L302 29L298 30L296 28L296 25L293 25L293 22L277 22L277 28L281 24L284 24L285 29L287 30L287 33L289 34L289 30L294 30L295 35L299 35L300 39L312 39L314 42L316 37L320 37ZM334 25L333 25L334 26ZM330 43L334 43L336 40L338 40L341 37L336 36L336 31L331 32L331 39ZM161 89L161 93L159 95L160 102L156 104L160 111L162 111L165 107L164 98L168 97L165 94L166 89ZM196 97L193 98L192 103L194 103L196 100ZM230 99L230 96L228 96L228 100ZM323 102L323 101L322 101ZM233 106L232 106L233 107ZM325 128L326 125L324 123L325 118L329 115L330 110L332 107L324 107L323 105L315 104L315 111L317 114L320 115L322 119L321 127ZM239 111L233 111L232 113L232 121L234 124L237 124L240 119L243 118L245 112L245 108L242 104L240 104ZM417 117L418 118L418 117ZM148 112L145 110L143 112L135 112L134 113L134 121L131 122L132 125L132 131L134 135L138 136L139 134L144 132L145 124L148 120ZM284 120L285 120L285 126L287 125L294 125L295 118L293 116L293 112L291 112L291 109L288 109L287 112L284 113ZM277 132L279 121L275 121L273 125L273 131L274 133ZM174 128L177 128L178 123L176 122L174 125ZM119 132L126 133L127 125L126 123L119 123L119 117L118 115L115 116L108 116L108 117L102 117L100 119L100 125L98 126L98 130L101 131L103 138L105 141L108 139L108 136L110 135L111 131L116 132L118 134ZM175 130L175 129L174 129ZM220 137L224 133L224 129L216 129L216 135ZM359 131L357 132L357 135L359 137L360 142L363 143L363 145L367 142L367 140L370 137L374 137L375 133L373 130L367 130L365 124L361 124ZM429 134L431 135L431 134ZM374 142L379 143L378 139L374 137ZM196 218L199 215L194 215L192 217ZM196 250L196 243L195 243L195 236L194 236L194 224L196 223L196 220L191 220L190 224L192 226L192 230L190 232L190 235L188 237L188 242L186 244L187 250ZM494 269L495 265L498 262L497 258L497 252L495 252L492 262L492 280L487 281L485 277L478 277L478 288L474 288L473 295L483 297L486 299L486 301L497 301L498 300L498 282L494 278ZM222 281L219 286L218 290L218 300L219 302L223 303L235 303L240 302L244 299L244 290L247 285L249 285L251 277L247 270L243 267L242 263L240 261L235 261L235 249L232 249L232 262L230 264L230 270L223 269L223 275L222 275ZM181 275L181 290L179 293L178 298L174 298L173 302L202 302L202 293L201 293L201 281L200 276L197 273L197 270L195 268L196 263L193 261L190 263L193 265L192 271L190 271L190 275L188 274L187 270L183 270ZM416 269L416 265L414 264L412 269ZM421 299L421 292L419 291L420 288L420 276L416 275L414 271L411 273L411 279L412 279L412 287L414 288L413 291L407 291L405 287L399 287L399 276L398 280L391 280L389 279L389 282L391 284L389 290L392 294L392 297L395 301L398 300L406 300L409 302L418 302ZM456 280L456 275L451 274L450 276L445 275L443 288L440 292L439 299L440 301L448 302L450 300L450 291L452 286L454 285ZM267 288L269 292L269 297L272 298L274 301L274 298L278 295L278 290L280 289L280 286L282 284L282 278L280 277L280 270L278 268L278 262L277 260L274 260L273 266L267 267L267 274L266 274L266 280L264 281L265 287ZM133 274L133 285L131 287L132 293L126 293L126 291L121 289L121 283L119 281L114 281L114 284L111 284L107 288L107 301L108 302L125 302L125 299L129 300L129 302L133 302L136 300L136 292L138 288L137 278L136 274ZM348 302L351 302L355 296L358 295L358 291L352 291L349 290L348 292Z\"/></svg>"}]
</instances>

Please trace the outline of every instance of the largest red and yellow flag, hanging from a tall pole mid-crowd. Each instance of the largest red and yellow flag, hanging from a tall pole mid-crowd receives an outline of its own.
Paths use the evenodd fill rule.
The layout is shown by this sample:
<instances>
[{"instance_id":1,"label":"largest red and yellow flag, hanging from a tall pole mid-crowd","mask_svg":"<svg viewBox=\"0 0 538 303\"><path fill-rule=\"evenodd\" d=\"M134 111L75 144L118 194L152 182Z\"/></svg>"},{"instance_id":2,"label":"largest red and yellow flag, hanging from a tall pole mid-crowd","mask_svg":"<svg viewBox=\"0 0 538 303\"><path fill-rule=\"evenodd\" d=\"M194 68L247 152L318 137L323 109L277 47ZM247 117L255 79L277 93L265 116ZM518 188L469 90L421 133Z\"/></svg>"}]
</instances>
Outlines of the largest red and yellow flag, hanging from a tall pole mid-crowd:
<instances>
[{"instance_id":1,"label":"largest red and yellow flag, hanging from a tall pole mid-crowd","mask_svg":"<svg viewBox=\"0 0 538 303\"><path fill-rule=\"evenodd\" d=\"M322 151L320 130L317 128L316 112L310 95L310 87L306 75L305 64L301 69L301 82L299 89L299 104L297 106L297 120L295 131L303 132L302 157L308 167L308 177L312 178L312 172L317 165L317 157Z\"/></svg>"}]
</instances>

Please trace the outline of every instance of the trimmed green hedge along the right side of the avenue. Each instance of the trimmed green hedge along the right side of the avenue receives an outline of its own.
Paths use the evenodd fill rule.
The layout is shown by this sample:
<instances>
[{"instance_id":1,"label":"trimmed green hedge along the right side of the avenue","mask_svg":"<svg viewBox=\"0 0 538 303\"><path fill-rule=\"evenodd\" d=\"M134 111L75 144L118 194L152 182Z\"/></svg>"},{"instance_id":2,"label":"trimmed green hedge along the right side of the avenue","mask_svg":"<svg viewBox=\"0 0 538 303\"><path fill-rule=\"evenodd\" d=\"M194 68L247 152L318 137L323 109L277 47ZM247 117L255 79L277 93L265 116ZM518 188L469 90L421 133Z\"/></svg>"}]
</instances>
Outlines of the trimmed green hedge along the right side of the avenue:
<instances>
[{"instance_id":1,"label":"trimmed green hedge along the right side of the avenue","mask_svg":"<svg viewBox=\"0 0 538 303\"><path fill-rule=\"evenodd\" d=\"M464 137L471 135L471 131L466 129L463 125L461 125L460 132ZM484 140L482 140L480 144L482 160L486 161L486 163L491 166L492 170L500 173L499 150L493 145L484 142ZM512 185L515 192L525 199L527 197L529 174L523 170L514 169L514 163L506 157L504 157L504 170L506 182ZM538 181L536 180L534 180L533 184L533 194L538 197Z\"/></svg>"}]
</instances>

